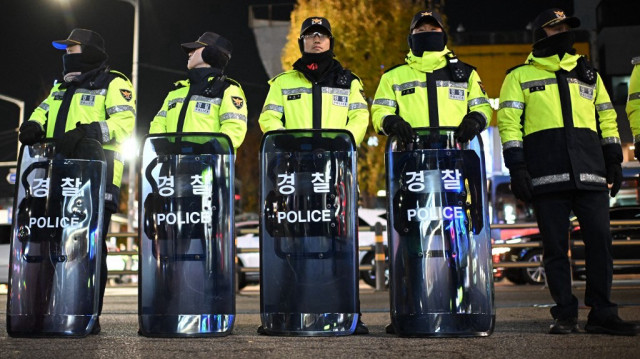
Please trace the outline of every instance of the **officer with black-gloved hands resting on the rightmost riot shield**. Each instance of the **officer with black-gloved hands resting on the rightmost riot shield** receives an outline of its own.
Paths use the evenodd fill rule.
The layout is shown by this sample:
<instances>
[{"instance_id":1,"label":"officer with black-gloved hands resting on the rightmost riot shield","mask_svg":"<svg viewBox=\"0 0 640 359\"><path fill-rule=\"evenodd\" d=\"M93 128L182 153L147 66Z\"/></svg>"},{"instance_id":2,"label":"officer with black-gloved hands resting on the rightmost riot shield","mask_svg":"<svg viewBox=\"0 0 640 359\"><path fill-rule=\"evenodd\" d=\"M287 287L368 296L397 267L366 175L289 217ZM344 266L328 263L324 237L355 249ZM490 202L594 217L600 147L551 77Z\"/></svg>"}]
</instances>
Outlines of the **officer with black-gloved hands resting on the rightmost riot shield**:
<instances>
[{"instance_id":1,"label":"officer with black-gloved hands resting on the rightmost riot shield","mask_svg":"<svg viewBox=\"0 0 640 359\"><path fill-rule=\"evenodd\" d=\"M416 13L409 33L406 63L380 79L371 106L373 128L409 143L413 127L456 126L456 139L469 141L491 120L480 76L447 48L439 13Z\"/></svg>"}]
</instances>

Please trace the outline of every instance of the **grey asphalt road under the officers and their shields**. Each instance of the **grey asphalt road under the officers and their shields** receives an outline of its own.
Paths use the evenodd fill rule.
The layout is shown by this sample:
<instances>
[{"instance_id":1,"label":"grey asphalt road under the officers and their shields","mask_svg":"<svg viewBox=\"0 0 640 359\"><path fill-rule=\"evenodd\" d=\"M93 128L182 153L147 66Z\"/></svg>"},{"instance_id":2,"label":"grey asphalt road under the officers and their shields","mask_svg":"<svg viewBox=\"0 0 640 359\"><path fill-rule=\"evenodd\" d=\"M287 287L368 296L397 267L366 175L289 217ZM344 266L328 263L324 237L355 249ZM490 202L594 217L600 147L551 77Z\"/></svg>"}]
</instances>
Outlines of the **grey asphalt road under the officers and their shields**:
<instances>
[{"instance_id":1,"label":"grey asphalt road under the officers and their shields","mask_svg":"<svg viewBox=\"0 0 640 359\"><path fill-rule=\"evenodd\" d=\"M583 299L584 286L574 293ZM259 288L237 296L232 335L205 339L158 339L137 335L137 289L110 287L100 319L102 333L83 339L11 338L6 333L6 295L0 296L1 358L639 358L640 336L587 334L549 335L552 300L543 287L497 283L496 326L484 338L399 338L384 332L389 322L388 292L362 284L363 319L371 333L331 338L258 335ZM640 282L615 283L613 299L620 316L640 322ZM588 308L580 309L580 327Z\"/></svg>"}]
</instances>

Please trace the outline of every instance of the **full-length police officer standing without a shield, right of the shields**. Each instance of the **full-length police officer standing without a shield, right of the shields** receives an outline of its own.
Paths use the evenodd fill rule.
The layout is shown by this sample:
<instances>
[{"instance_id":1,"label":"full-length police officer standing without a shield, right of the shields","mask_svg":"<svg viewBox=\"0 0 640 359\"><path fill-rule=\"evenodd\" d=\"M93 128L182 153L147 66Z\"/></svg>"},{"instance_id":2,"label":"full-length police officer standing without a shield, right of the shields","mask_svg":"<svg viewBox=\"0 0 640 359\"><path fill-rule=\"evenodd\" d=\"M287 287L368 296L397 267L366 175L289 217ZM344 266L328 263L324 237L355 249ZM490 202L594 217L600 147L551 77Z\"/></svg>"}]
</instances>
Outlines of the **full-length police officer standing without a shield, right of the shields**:
<instances>
[{"instance_id":1,"label":"full-length police officer standing without a shield, right of the shields","mask_svg":"<svg viewBox=\"0 0 640 359\"><path fill-rule=\"evenodd\" d=\"M567 256L569 214L584 235L590 333L634 335L611 302L609 199L620 189L622 148L616 112L600 75L573 49L580 20L561 9L533 22L533 51L507 72L498 126L514 195L532 201L542 234L544 268L556 305L551 334L578 330L578 299L571 293Z\"/></svg>"}]
</instances>

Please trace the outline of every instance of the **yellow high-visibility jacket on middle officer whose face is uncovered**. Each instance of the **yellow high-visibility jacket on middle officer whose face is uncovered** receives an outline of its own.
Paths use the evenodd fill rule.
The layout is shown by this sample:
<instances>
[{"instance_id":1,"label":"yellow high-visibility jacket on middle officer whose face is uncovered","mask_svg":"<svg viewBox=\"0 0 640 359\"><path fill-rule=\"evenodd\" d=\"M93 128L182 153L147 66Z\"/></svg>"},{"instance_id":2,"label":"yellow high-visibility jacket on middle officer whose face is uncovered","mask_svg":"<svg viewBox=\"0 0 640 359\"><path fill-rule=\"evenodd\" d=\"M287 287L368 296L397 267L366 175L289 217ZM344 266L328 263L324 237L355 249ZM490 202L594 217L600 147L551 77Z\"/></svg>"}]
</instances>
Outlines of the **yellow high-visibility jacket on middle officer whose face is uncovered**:
<instances>
[{"instance_id":1,"label":"yellow high-visibility jacket on middle officer whose face is uncovered","mask_svg":"<svg viewBox=\"0 0 640 359\"><path fill-rule=\"evenodd\" d=\"M334 66L320 82L298 70L269 81L258 122L262 132L278 129L346 129L360 144L369 125L369 107L360 79Z\"/></svg>"}]
</instances>

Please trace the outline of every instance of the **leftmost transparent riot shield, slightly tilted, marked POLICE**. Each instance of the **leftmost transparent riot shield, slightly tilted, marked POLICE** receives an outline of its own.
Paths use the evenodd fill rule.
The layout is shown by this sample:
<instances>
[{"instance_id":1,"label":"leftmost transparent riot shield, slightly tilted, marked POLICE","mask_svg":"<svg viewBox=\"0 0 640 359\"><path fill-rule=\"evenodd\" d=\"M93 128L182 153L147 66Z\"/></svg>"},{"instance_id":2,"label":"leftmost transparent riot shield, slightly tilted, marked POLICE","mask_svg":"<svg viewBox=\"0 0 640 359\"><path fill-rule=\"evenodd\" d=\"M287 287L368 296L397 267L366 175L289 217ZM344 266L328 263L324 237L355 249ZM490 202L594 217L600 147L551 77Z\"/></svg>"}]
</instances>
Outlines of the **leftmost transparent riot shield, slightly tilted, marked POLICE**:
<instances>
[{"instance_id":1,"label":"leftmost transparent riot shield, slightly tilted, marked POLICE","mask_svg":"<svg viewBox=\"0 0 640 359\"><path fill-rule=\"evenodd\" d=\"M106 162L56 155L53 142L20 149L11 238L7 332L85 336L98 317Z\"/></svg>"}]
</instances>

